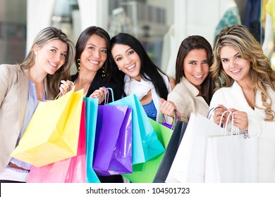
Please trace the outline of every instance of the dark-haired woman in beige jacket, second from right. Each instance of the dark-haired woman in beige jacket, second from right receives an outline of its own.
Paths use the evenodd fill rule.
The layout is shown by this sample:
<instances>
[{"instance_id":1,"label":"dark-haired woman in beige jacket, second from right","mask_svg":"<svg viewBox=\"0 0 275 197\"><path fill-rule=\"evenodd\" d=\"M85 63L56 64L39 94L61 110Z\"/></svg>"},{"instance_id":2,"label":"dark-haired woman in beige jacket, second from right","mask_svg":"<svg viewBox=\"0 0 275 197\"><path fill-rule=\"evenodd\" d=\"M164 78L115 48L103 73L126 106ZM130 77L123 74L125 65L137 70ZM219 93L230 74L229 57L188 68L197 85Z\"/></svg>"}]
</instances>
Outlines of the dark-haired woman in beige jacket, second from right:
<instances>
[{"instance_id":1,"label":"dark-haired woman in beige jacket, second from right","mask_svg":"<svg viewBox=\"0 0 275 197\"><path fill-rule=\"evenodd\" d=\"M214 90L209 68L212 47L204 37L193 35L181 42L176 59L176 87L163 101L161 112L188 122L191 113L207 116ZM168 120L171 123L171 118Z\"/></svg>"}]
</instances>

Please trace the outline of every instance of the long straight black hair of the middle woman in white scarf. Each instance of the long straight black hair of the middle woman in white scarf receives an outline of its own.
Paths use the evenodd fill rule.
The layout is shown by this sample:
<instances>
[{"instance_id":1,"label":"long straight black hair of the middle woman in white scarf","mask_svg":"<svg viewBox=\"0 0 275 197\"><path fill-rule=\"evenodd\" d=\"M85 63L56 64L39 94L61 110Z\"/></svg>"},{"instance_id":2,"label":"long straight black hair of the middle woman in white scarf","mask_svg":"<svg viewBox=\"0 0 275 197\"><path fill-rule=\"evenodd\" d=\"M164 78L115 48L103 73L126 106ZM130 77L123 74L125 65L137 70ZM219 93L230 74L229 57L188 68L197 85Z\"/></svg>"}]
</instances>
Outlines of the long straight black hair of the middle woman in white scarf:
<instances>
[{"instance_id":1,"label":"long straight black hair of the middle woman in white scarf","mask_svg":"<svg viewBox=\"0 0 275 197\"><path fill-rule=\"evenodd\" d=\"M111 49L114 47L114 44L124 44L130 46L138 56L140 56L140 75L143 79L151 81L154 84L154 88L156 89L157 94L159 97L167 99L169 94L168 89L166 88L166 84L164 82L163 77L161 77L160 73L163 73L157 65L155 65L152 60L149 58L147 52L145 51L142 44L130 34L126 33L119 33L116 36L111 38L111 46L110 46L110 53ZM123 84L123 77L124 73L118 71L118 67L114 61L114 58L110 55L109 61L113 73L117 76L116 80L120 80L120 84ZM164 74L165 75L165 74Z\"/></svg>"}]
</instances>

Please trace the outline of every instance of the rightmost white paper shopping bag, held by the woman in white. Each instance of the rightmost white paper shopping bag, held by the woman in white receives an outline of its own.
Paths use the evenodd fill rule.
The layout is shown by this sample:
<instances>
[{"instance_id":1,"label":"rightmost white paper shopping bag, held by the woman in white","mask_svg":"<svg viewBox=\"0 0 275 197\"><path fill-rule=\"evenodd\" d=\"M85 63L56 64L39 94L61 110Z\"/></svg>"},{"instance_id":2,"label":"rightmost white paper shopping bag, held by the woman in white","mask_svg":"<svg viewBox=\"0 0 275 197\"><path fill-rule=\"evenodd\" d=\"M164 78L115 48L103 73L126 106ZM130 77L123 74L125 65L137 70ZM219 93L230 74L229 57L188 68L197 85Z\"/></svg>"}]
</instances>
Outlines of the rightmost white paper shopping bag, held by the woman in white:
<instances>
[{"instance_id":1,"label":"rightmost white paper shopping bag, held by the woman in white","mask_svg":"<svg viewBox=\"0 0 275 197\"><path fill-rule=\"evenodd\" d=\"M205 182L258 182L257 137L242 134L207 139Z\"/></svg>"}]
</instances>

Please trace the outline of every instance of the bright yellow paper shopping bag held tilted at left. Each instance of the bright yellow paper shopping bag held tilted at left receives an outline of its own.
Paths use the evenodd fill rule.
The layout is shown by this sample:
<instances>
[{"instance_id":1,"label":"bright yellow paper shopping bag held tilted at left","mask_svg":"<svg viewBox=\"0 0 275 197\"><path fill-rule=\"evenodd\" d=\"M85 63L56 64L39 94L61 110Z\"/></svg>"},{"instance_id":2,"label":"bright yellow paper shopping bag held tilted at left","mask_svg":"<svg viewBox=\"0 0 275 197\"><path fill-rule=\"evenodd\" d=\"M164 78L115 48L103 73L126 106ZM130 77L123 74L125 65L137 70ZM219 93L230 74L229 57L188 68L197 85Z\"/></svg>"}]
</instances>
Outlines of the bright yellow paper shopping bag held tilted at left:
<instances>
[{"instance_id":1,"label":"bright yellow paper shopping bag held tilted at left","mask_svg":"<svg viewBox=\"0 0 275 197\"><path fill-rule=\"evenodd\" d=\"M11 156L36 167L75 156L82 96L83 90L73 88L56 100L40 102Z\"/></svg>"}]
</instances>

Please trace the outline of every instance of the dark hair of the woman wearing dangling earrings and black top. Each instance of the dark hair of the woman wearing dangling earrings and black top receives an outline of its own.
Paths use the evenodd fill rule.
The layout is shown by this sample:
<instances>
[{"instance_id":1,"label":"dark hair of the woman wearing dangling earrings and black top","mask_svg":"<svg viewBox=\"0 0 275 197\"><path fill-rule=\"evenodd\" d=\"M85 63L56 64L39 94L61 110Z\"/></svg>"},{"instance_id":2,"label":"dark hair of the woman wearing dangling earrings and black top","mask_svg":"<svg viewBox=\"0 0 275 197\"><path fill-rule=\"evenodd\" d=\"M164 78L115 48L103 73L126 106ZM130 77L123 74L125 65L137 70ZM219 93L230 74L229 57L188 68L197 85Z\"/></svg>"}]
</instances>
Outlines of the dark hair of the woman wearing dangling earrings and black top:
<instances>
[{"instance_id":1,"label":"dark hair of the woman wearing dangling earrings and black top","mask_svg":"<svg viewBox=\"0 0 275 197\"><path fill-rule=\"evenodd\" d=\"M92 36L92 34L97 34L99 37L102 37L106 42L107 50L109 50L109 47L110 47L109 34L104 29L102 29L102 27L96 27L96 26L87 27L83 32L81 32L80 36L78 37L78 41L75 44L76 68L79 67L78 59L80 59L81 53L84 51L87 41L90 38L90 36ZM108 59L108 56L107 56L107 59ZM111 78L111 72L107 64L107 61L105 61L105 63L102 65L102 68L100 69L100 71L104 72L104 75L105 75L104 80L108 82Z\"/></svg>"}]
</instances>

